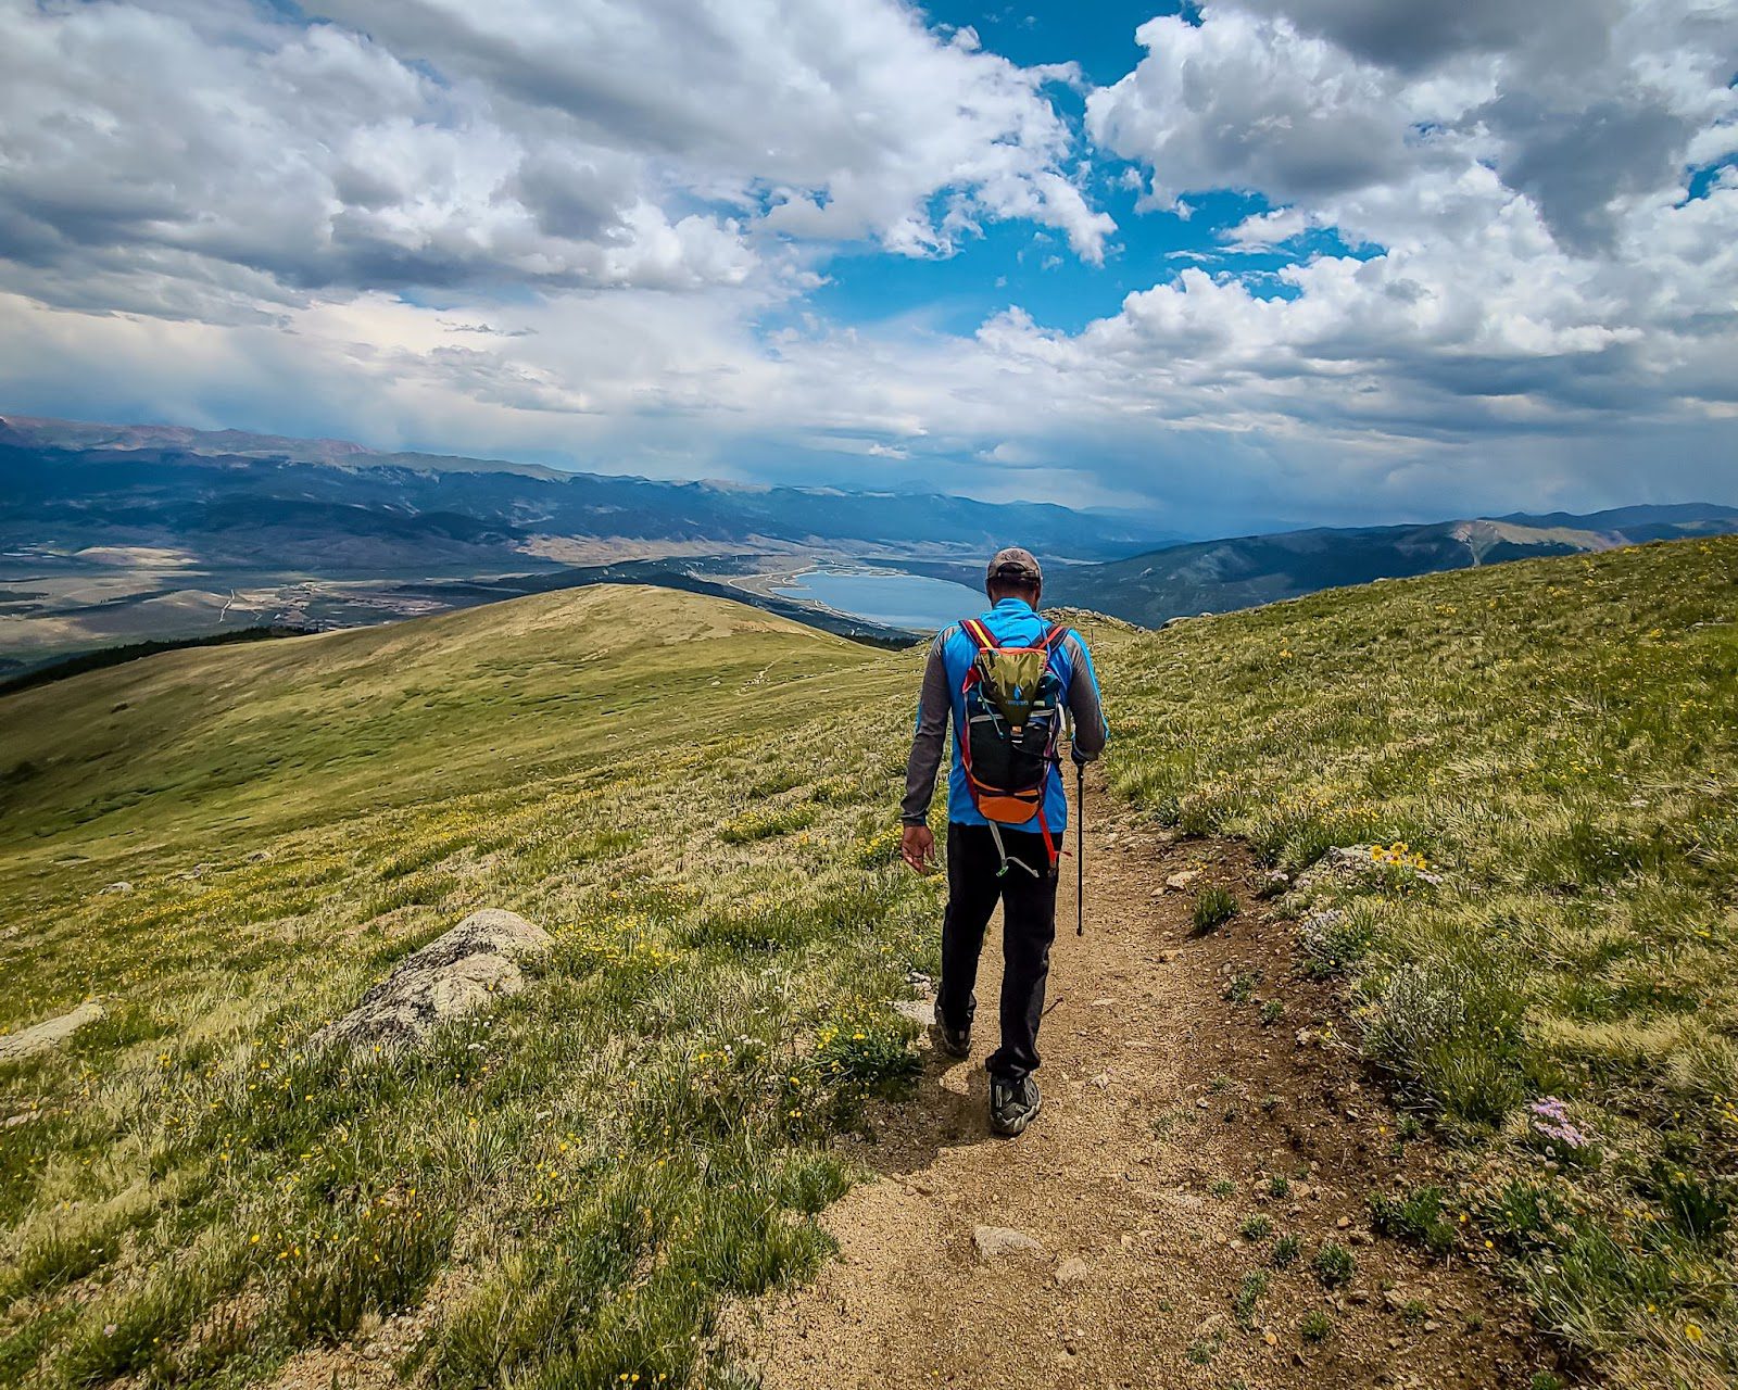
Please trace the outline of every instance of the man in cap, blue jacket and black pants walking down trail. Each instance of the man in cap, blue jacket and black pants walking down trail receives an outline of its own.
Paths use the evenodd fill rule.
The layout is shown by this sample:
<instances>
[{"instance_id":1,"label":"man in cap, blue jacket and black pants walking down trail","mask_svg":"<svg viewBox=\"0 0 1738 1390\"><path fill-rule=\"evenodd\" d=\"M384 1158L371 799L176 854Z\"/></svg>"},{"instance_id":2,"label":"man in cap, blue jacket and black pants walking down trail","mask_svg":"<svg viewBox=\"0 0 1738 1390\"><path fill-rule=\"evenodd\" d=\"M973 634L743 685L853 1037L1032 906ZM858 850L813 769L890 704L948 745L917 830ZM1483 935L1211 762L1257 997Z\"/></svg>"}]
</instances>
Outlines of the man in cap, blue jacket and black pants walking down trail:
<instances>
[{"instance_id":1,"label":"man in cap, blue jacket and black pants walking down trail","mask_svg":"<svg viewBox=\"0 0 1738 1390\"><path fill-rule=\"evenodd\" d=\"M900 855L925 874L935 864L928 813L951 714L947 910L935 1036L951 1056L970 1056L978 954L999 900L1001 1046L984 1063L989 1122L999 1135L1018 1135L1041 1103L1032 1072L1069 817L1058 752L1062 709L1074 719L1076 768L1100 754L1107 735L1086 645L1072 629L1038 615L1043 587L1031 551L998 551L984 580L994 606L937 634L923 669L900 808Z\"/></svg>"}]
</instances>

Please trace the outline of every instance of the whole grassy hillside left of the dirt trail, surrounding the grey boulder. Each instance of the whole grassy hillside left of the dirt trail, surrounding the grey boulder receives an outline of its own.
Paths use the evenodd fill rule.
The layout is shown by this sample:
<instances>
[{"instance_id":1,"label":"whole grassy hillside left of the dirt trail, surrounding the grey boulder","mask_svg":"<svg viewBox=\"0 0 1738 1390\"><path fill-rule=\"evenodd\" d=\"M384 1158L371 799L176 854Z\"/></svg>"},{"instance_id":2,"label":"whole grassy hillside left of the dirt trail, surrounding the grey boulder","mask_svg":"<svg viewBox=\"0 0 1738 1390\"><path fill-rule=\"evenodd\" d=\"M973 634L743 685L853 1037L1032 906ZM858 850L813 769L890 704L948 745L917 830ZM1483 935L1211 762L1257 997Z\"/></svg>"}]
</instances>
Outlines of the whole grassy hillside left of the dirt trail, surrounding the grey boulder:
<instances>
[{"instance_id":1,"label":"whole grassy hillside left of the dirt trail, surrounding the grey boulder","mask_svg":"<svg viewBox=\"0 0 1738 1390\"><path fill-rule=\"evenodd\" d=\"M0 1063L0 1383L254 1380L431 1289L436 1385L683 1380L909 1065L911 681L610 587L3 700L0 1025L109 1013ZM535 990L415 1063L304 1049L485 904L556 935Z\"/></svg>"}]
</instances>

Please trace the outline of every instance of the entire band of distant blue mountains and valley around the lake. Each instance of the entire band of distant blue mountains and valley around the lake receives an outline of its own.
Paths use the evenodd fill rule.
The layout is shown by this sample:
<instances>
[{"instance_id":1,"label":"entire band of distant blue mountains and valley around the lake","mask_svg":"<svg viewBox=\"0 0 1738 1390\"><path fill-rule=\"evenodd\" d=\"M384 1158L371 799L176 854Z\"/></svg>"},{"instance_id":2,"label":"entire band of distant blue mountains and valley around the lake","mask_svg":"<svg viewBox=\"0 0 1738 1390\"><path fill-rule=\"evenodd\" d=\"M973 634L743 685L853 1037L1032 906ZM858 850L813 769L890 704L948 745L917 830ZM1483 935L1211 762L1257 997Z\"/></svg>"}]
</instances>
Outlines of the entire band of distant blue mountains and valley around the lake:
<instances>
[{"instance_id":1,"label":"entire band of distant blue mountains and valley around the lake","mask_svg":"<svg viewBox=\"0 0 1738 1390\"><path fill-rule=\"evenodd\" d=\"M1319 589L1738 532L1738 507L1637 506L1180 540L1053 504L560 473L179 426L0 419L0 676L238 627L353 627L596 582L744 598L848 636L874 613L779 592L812 565L977 591L1018 542L1046 601L1142 626ZM968 596L956 596L970 603Z\"/></svg>"}]
</instances>

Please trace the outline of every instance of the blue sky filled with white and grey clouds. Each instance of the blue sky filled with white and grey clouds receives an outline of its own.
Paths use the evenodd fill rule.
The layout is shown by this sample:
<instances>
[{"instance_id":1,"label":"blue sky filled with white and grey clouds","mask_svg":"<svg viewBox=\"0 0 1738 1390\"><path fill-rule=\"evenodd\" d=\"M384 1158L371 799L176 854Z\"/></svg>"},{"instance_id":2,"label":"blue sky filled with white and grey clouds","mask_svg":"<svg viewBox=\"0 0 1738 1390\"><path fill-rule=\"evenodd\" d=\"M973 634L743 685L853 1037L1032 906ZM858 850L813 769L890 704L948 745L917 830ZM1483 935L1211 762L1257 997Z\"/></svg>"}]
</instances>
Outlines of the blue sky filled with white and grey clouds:
<instances>
[{"instance_id":1,"label":"blue sky filled with white and grey clouds","mask_svg":"<svg viewBox=\"0 0 1738 1390\"><path fill-rule=\"evenodd\" d=\"M1738 499L1738 0L0 0L0 410L1116 506Z\"/></svg>"}]
</instances>

